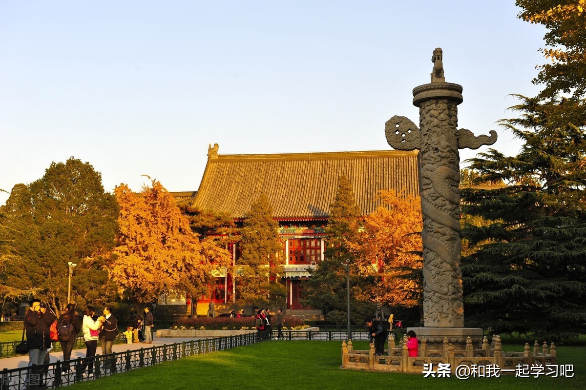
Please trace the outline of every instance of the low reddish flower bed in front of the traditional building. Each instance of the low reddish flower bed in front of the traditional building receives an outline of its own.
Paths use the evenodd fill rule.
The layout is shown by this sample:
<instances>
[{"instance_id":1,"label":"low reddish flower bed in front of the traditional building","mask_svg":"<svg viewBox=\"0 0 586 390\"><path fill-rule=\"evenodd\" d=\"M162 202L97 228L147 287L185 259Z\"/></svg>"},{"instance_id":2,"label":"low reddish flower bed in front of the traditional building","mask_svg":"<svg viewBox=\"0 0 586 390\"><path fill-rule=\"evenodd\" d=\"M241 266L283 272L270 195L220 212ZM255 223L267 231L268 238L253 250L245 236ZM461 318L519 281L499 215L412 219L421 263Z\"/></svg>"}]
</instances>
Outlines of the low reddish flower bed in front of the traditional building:
<instances>
[{"instance_id":1,"label":"low reddish flower bed in front of the traditional building","mask_svg":"<svg viewBox=\"0 0 586 390\"><path fill-rule=\"evenodd\" d=\"M271 319L274 321L274 316ZM273 327L274 324L273 324ZM283 330L298 330L308 328L299 318L284 316ZM185 320L177 320L170 329L173 330L255 330L254 317L230 318L230 317L199 317Z\"/></svg>"}]
</instances>

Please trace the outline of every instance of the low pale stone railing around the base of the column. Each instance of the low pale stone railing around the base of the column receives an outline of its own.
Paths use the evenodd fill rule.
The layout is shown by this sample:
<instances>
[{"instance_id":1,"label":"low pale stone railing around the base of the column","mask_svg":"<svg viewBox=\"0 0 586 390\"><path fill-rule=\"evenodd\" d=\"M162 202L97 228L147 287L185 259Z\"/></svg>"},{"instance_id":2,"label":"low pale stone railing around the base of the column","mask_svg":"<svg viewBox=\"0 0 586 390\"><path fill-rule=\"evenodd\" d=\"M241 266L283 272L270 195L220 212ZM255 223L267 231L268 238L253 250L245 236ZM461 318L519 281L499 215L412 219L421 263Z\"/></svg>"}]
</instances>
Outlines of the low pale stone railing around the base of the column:
<instances>
[{"instance_id":1,"label":"low pale stone railing around the base of the column","mask_svg":"<svg viewBox=\"0 0 586 390\"><path fill-rule=\"evenodd\" d=\"M389 335L389 349L386 355L374 355L374 344L370 344L370 350L355 351L352 340L342 343L342 367L349 370L370 370L370 371L394 371L410 372L421 374L424 372L424 365L438 367L443 364L449 367L453 373L459 365L498 367L500 370L515 369L519 364L546 365L557 364L556 345L547 343L540 346L537 341L534 343L533 351L529 343L525 344L523 352L504 352L500 336L494 336L489 344L488 338L484 337L481 345L476 347L472 339L468 337L463 347L454 347L444 338L441 349L428 348L427 340L421 338L417 357L410 357L407 350L407 337L395 344L392 334ZM446 366L449 364L449 366ZM505 371L506 372L506 371Z\"/></svg>"}]
</instances>

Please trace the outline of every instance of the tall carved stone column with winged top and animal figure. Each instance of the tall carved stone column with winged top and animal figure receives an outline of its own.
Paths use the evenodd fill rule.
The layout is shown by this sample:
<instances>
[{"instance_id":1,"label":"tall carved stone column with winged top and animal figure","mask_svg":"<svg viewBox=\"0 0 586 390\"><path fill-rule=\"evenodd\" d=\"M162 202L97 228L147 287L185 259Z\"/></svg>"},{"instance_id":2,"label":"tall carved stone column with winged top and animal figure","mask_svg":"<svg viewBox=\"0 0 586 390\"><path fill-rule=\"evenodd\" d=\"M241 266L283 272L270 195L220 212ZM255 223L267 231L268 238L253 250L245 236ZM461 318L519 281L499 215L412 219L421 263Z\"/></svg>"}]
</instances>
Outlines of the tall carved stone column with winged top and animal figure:
<instances>
[{"instance_id":1,"label":"tall carved stone column with winged top and animal figure","mask_svg":"<svg viewBox=\"0 0 586 390\"><path fill-rule=\"evenodd\" d=\"M413 89L419 128L410 119L395 115L386 122L385 135L394 149L420 150L424 327L413 330L432 345L440 346L442 338L449 337L450 343L463 348L467 336L480 343L482 329L464 328L458 149L492 145L497 135L491 130L490 136L474 136L457 128L462 86L445 82L441 48L434 50L431 61L431 83Z\"/></svg>"}]
</instances>

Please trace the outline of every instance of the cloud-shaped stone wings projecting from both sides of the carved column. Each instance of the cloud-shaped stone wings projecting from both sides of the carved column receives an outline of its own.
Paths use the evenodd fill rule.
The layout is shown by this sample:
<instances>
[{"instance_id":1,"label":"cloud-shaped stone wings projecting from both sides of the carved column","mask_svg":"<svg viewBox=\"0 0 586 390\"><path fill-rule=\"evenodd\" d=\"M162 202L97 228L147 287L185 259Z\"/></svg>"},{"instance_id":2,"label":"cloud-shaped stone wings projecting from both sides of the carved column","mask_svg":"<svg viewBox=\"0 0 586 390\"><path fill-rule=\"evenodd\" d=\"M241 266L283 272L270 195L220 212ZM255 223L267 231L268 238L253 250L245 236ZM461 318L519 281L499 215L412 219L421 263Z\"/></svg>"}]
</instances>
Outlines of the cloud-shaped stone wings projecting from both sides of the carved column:
<instances>
[{"instance_id":1,"label":"cloud-shaped stone wings projecting from both sides of the carved column","mask_svg":"<svg viewBox=\"0 0 586 390\"><path fill-rule=\"evenodd\" d=\"M389 145L397 150L421 150L421 131L411 119L395 115L385 123L384 134ZM458 129L458 149L478 149L483 145L492 145L496 142L496 131L490 130L490 135L475 136L468 129Z\"/></svg>"}]
</instances>

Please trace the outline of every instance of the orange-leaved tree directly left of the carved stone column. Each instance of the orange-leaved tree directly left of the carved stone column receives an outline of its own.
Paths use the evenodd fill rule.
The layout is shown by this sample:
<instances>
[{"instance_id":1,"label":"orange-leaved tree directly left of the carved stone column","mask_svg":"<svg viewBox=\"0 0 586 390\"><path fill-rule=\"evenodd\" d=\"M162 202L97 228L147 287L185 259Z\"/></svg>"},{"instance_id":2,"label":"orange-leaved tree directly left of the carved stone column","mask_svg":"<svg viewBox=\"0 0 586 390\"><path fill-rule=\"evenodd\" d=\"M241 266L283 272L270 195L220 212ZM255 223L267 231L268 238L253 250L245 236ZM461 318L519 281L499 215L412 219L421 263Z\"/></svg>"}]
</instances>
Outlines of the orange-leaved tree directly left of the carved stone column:
<instances>
[{"instance_id":1,"label":"orange-leaved tree directly left of the carved stone column","mask_svg":"<svg viewBox=\"0 0 586 390\"><path fill-rule=\"evenodd\" d=\"M423 276L421 201L381 191L386 206L364 217L363 227L346 245L364 276L373 278L364 297L381 305L414 307L420 303Z\"/></svg>"}]
</instances>

